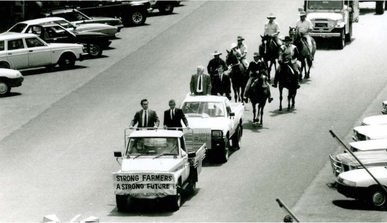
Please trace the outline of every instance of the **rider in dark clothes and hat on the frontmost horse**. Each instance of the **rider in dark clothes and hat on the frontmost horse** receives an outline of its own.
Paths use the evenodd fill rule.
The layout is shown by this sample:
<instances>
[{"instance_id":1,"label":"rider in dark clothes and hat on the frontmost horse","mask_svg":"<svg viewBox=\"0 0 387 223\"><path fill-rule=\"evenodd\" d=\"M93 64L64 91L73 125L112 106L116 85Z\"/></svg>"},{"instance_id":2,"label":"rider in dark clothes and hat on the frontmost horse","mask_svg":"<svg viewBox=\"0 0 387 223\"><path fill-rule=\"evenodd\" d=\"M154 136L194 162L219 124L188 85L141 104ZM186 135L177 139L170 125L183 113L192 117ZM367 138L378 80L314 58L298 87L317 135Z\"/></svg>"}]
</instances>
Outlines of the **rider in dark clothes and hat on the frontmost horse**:
<instances>
[{"instance_id":1,"label":"rider in dark clothes and hat on the frontmost horse","mask_svg":"<svg viewBox=\"0 0 387 223\"><path fill-rule=\"evenodd\" d=\"M243 94L243 100L247 103L248 102L248 95L249 95L249 90L250 90L250 87L251 87L251 84L253 83L253 81L260 77L261 75L263 75L265 78L264 80L267 81L267 67L266 67L266 64L260 60L260 55L259 53L257 52L254 52L253 54L253 58L254 60L252 62L250 62L249 64L249 68L247 69L247 72L249 72L249 75L250 75L250 78L249 80L247 81L247 84L246 84L246 88L245 88L245 93ZM270 88L269 88L269 85L265 84L266 81L264 81L264 85L263 87L266 87L267 88L267 93L268 93L268 99L269 99L269 103L273 100L273 98L271 97L271 93L270 93Z\"/></svg>"}]
</instances>

